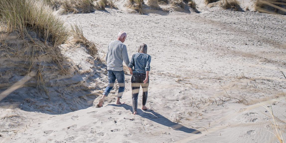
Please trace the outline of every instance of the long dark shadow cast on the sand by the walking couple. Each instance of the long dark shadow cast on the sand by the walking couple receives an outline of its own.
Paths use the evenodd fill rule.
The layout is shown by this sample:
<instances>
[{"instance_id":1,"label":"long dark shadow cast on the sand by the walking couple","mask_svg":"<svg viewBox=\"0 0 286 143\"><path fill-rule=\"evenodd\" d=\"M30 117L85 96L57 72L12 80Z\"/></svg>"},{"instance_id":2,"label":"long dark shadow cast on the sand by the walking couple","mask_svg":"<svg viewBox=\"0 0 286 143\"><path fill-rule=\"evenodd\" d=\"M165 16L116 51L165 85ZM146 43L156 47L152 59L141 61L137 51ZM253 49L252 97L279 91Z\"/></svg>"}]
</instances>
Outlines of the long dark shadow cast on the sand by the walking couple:
<instances>
[{"instance_id":1,"label":"long dark shadow cast on the sand by the walking couple","mask_svg":"<svg viewBox=\"0 0 286 143\"><path fill-rule=\"evenodd\" d=\"M123 107L126 110L130 110L132 111L132 106L129 106L127 104L123 104L123 105L116 105L116 104L108 104L110 106L117 106L117 107ZM108 106L107 105L107 106ZM169 119L165 118L164 116L154 112L153 110L146 110L146 111L142 111L142 110L138 110L137 114L143 118L149 119L153 122L156 122L158 124L167 126L167 127L171 127L174 130L179 130L179 131L183 131L186 133L192 133L192 134L202 134L200 131L195 130L195 129L191 129L191 128L187 128L181 124L178 123L174 123L172 121L170 121Z\"/></svg>"}]
</instances>

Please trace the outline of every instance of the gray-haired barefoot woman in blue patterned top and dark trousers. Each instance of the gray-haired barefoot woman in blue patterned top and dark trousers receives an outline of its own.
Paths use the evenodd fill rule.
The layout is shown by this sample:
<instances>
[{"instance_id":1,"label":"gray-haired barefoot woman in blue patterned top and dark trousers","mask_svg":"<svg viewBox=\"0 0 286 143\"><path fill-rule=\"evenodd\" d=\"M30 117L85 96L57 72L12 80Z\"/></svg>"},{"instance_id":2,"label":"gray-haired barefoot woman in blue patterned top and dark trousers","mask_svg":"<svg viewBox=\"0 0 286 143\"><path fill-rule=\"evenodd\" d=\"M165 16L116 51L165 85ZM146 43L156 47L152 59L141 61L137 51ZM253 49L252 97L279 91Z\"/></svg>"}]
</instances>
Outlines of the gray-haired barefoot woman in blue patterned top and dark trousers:
<instances>
[{"instance_id":1,"label":"gray-haired barefoot woman in blue patterned top and dark trousers","mask_svg":"<svg viewBox=\"0 0 286 143\"><path fill-rule=\"evenodd\" d=\"M131 78L133 115L137 114L137 100L140 86L143 90L142 109L148 109L145 104L148 97L149 86L149 71L150 71L151 56L147 54L147 45L141 44L138 48L138 53L132 55L131 61L128 64ZM132 70L132 67L134 69Z\"/></svg>"}]
</instances>

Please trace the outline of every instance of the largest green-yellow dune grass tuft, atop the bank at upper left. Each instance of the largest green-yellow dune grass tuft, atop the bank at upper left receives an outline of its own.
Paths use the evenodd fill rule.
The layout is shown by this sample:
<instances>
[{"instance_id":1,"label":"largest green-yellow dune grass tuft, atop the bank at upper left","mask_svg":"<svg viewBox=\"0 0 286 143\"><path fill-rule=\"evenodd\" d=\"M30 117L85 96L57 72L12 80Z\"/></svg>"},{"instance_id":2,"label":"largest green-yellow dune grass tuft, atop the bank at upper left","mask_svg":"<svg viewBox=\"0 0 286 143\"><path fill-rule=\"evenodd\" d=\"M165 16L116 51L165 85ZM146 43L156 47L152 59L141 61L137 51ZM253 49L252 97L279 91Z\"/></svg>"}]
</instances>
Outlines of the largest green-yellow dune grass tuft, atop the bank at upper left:
<instances>
[{"instance_id":1,"label":"largest green-yellow dune grass tuft, atop the bank at upper left","mask_svg":"<svg viewBox=\"0 0 286 143\"><path fill-rule=\"evenodd\" d=\"M39 0L1 0L0 21L7 31L17 31L31 39L40 37L43 43L57 47L68 38L64 22L53 15L53 10ZM35 33L29 33L34 31Z\"/></svg>"}]
</instances>

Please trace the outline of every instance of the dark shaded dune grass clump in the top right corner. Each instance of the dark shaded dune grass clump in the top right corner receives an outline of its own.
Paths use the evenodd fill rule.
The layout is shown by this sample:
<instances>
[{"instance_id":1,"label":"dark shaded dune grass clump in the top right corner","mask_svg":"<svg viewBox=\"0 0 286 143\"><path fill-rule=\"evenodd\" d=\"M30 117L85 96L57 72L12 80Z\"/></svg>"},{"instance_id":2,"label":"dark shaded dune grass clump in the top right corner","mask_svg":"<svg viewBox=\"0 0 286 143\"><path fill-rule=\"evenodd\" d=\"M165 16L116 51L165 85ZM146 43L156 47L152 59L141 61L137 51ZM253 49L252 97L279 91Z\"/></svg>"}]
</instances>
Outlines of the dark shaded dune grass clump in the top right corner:
<instances>
[{"instance_id":1,"label":"dark shaded dune grass clump in the top right corner","mask_svg":"<svg viewBox=\"0 0 286 143\"><path fill-rule=\"evenodd\" d=\"M286 15L286 0L257 0L255 10L261 13Z\"/></svg>"}]
</instances>

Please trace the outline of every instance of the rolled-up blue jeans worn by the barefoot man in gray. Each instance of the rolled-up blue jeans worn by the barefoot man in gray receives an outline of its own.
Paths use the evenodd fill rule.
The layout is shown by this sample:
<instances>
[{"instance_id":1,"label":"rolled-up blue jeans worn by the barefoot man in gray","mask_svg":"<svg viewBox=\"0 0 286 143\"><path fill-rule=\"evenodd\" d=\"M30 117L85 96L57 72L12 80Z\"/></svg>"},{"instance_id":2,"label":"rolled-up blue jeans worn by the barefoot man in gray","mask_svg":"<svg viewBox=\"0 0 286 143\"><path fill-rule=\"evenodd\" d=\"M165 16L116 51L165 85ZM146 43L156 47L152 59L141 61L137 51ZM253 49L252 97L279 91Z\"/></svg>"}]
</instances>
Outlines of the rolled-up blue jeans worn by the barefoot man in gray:
<instances>
[{"instance_id":1,"label":"rolled-up blue jeans worn by the barefoot man in gray","mask_svg":"<svg viewBox=\"0 0 286 143\"><path fill-rule=\"evenodd\" d=\"M124 72L107 70L107 74L108 74L108 86L105 88L103 95L108 96L109 92L114 87L115 80L117 80L119 84L117 97L121 98L125 88Z\"/></svg>"}]
</instances>

